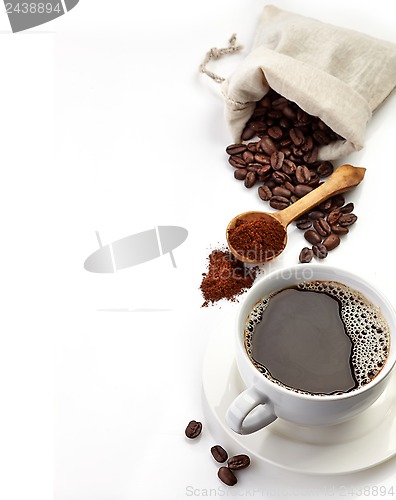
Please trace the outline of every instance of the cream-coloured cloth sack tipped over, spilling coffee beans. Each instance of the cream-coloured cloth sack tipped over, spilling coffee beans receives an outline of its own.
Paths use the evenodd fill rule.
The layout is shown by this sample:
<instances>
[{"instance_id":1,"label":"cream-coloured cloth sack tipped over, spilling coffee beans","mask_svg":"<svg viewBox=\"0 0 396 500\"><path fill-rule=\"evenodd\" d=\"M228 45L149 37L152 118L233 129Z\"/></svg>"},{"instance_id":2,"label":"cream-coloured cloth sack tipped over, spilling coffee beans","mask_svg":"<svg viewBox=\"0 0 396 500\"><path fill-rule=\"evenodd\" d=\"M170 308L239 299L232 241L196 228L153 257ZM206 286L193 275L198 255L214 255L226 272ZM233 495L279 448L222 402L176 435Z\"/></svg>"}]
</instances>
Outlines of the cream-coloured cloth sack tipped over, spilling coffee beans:
<instances>
[{"instance_id":1,"label":"cream-coloured cloth sack tipped over, spilling coffee beans","mask_svg":"<svg viewBox=\"0 0 396 500\"><path fill-rule=\"evenodd\" d=\"M319 150L334 160L363 147L372 113L396 87L396 45L267 5L250 54L221 85L235 142L271 87L345 138Z\"/></svg>"}]
</instances>

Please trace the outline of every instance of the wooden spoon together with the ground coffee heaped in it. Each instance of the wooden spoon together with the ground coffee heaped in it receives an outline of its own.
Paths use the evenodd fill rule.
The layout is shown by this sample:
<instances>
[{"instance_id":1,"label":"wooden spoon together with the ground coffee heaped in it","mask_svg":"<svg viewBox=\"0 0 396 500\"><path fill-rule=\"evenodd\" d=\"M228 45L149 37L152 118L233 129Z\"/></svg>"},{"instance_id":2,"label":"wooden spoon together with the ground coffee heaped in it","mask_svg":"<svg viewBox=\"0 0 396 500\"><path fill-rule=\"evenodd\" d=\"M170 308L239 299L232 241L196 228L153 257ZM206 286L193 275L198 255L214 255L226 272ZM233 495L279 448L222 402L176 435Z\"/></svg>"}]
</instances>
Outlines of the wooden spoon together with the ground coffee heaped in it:
<instances>
[{"instance_id":1,"label":"wooden spoon together with the ground coffee heaped in it","mask_svg":"<svg viewBox=\"0 0 396 500\"><path fill-rule=\"evenodd\" d=\"M333 172L326 182L279 212L268 213L250 211L237 215L229 222L226 230L227 243L231 253L245 264L256 265L269 262L275 257L278 257L286 247L287 226L291 222L328 198L349 191L360 184L364 178L365 172L365 168L354 167L348 164L341 165ZM254 229L250 227L250 224L244 224L254 221L257 221L257 224L253 224L256 226ZM242 224L245 227L241 229L241 232L242 236L246 237L246 240L245 242L242 241L240 245L241 248L237 248L237 245L232 243L233 234L235 235L234 232L237 231ZM245 248L244 243L248 244L250 240L254 240L260 226L263 228L263 233L265 233L266 228L268 228L268 232L272 234L275 232L277 234L277 244L272 245L274 248L269 244L266 245L265 249L264 247L263 249L258 249L257 247ZM240 239L241 235L239 234L239 240ZM265 241L265 234L262 234L262 239ZM269 242L270 240L267 243Z\"/></svg>"}]
</instances>

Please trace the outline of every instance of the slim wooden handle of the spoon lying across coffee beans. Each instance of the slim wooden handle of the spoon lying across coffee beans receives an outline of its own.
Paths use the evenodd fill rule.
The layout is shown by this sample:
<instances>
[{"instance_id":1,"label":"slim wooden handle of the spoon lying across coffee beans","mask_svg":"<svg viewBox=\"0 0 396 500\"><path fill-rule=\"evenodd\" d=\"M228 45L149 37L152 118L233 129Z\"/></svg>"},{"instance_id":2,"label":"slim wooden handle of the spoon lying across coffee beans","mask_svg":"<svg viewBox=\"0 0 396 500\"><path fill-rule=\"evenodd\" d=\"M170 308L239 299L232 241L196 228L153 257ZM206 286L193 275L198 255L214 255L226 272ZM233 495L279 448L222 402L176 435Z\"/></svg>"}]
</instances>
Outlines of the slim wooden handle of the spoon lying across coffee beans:
<instances>
[{"instance_id":1,"label":"slim wooden handle of the spoon lying across coffee beans","mask_svg":"<svg viewBox=\"0 0 396 500\"><path fill-rule=\"evenodd\" d=\"M290 222L298 219L300 215L308 212L311 208L322 203L332 196L344 193L357 186L363 180L365 168L353 167L352 165L341 165L321 186L313 189L293 205L272 214L285 227Z\"/></svg>"}]
</instances>

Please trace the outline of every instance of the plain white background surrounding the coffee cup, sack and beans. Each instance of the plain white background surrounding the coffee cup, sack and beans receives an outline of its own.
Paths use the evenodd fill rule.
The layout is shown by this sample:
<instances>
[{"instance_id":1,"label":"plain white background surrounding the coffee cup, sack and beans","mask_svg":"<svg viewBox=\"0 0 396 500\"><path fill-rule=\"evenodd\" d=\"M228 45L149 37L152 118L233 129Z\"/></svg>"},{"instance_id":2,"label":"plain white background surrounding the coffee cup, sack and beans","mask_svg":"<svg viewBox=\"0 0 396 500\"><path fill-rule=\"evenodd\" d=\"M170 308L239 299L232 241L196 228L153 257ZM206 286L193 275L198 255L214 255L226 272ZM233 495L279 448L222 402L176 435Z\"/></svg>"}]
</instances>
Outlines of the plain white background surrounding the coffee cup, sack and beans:
<instances>
[{"instance_id":1,"label":"plain white background surrounding the coffee cup, sack and beans","mask_svg":"<svg viewBox=\"0 0 396 500\"><path fill-rule=\"evenodd\" d=\"M276 488L293 496L307 485L341 496L345 484L396 494L395 459L319 478L256 463L221 490L208 454L218 436L205 427L202 360L238 306L201 308L201 273L228 221L266 205L233 179L218 88L198 67L236 32L244 52L212 66L230 74L266 3L81 0L19 34L1 14L1 498L171 500L249 488L276 498ZM396 42L385 0L273 3ZM395 114L392 95L364 149L344 159L367 168L348 195L359 221L326 261L371 279L394 304ZM117 274L84 270L95 231L105 244L155 225L189 231L176 269L165 256ZM295 264L302 246L290 228L272 269ZM193 418L205 432L191 443Z\"/></svg>"}]
</instances>

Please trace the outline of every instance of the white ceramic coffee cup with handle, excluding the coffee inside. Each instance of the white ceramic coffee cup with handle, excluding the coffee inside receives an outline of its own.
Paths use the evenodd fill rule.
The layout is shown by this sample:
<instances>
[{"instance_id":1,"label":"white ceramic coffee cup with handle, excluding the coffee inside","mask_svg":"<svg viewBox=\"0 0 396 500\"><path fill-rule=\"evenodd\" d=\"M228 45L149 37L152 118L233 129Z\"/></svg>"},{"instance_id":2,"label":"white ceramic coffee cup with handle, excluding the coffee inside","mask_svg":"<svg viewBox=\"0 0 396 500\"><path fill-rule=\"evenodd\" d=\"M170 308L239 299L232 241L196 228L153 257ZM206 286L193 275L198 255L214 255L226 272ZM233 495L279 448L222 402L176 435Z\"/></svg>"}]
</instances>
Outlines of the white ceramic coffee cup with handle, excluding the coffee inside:
<instances>
[{"instance_id":1,"label":"white ceramic coffee cup with handle, excluding the coffee inside","mask_svg":"<svg viewBox=\"0 0 396 500\"><path fill-rule=\"evenodd\" d=\"M255 304L269 294L302 281L337 281L360 291L380 308L390 328L390 351L379 374L367 385L338 395L296 392L260 373L244 346L246 320ZM236 361L247 386L230 405L226 421L238 434L251 434L282 418L297 425L332 425L344 422L368 408L386 388L396 362L396 315L387 298L363 278L323 264L300 264L261 278L247 292L237 314Z\"/></svg>"}]
</instances>

